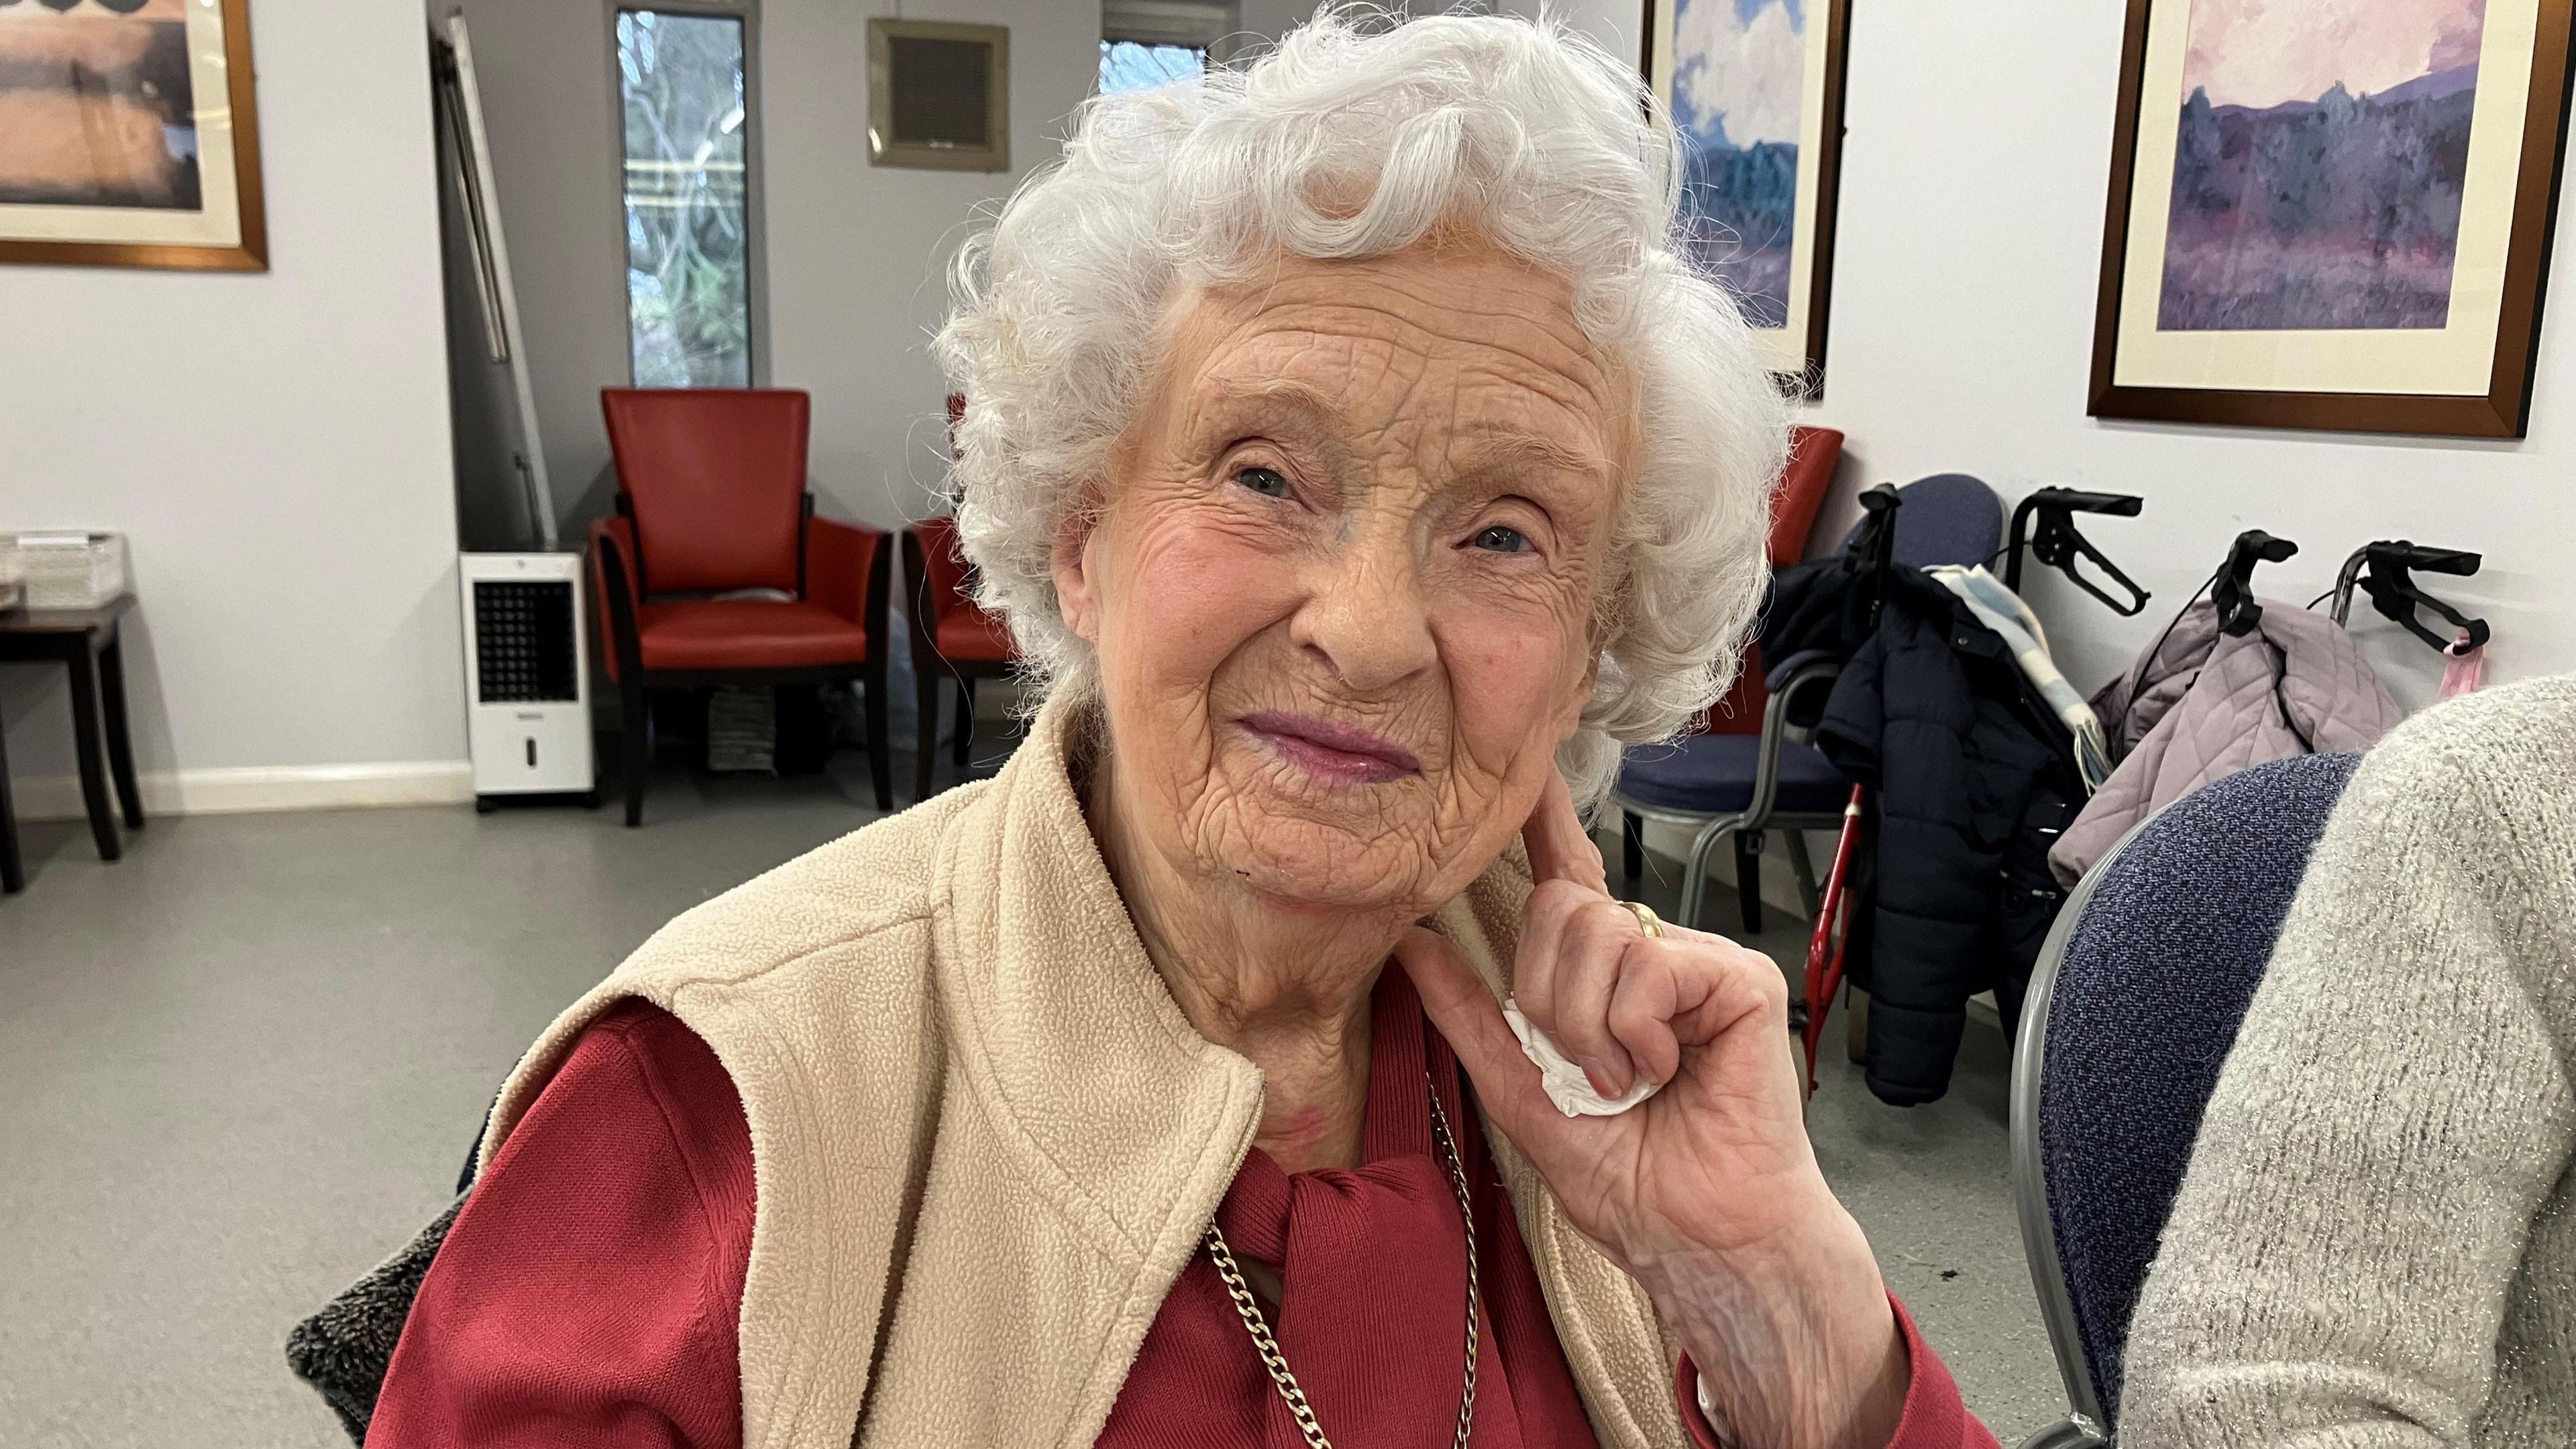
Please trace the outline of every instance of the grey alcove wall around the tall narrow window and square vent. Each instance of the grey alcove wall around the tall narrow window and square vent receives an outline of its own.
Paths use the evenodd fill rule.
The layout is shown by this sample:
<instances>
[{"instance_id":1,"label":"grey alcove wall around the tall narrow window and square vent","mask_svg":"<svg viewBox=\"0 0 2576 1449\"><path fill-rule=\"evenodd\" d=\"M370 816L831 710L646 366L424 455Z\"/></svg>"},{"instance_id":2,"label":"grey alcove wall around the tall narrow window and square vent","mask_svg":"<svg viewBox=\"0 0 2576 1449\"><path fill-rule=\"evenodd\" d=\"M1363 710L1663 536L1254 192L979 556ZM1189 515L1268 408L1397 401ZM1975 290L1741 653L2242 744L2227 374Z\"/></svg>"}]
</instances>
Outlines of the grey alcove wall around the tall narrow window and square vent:
<instances>
[{"instance_id":1,"label":"grey alcove wall around the tall narrow window and square vent","mask_svg":"<svg viewBox=\"0 0 2576 1449\"><path fill-rule=\"evenodd\" d=\"M459 0L430 0L446 13ZM567 541L608 508L600 387L626 382L618 139L603 0L461 0L538 428ZM1010 173L868 165L868 15L840 0L760 5L768 353L814 394L819 505L878 526L930 511L943 384L925 353L943 268L979 204L1054 157L1097 75L1100 13L1079 0L914 0L914 21L1010 26Z\"/></svg>"}]
</instances>

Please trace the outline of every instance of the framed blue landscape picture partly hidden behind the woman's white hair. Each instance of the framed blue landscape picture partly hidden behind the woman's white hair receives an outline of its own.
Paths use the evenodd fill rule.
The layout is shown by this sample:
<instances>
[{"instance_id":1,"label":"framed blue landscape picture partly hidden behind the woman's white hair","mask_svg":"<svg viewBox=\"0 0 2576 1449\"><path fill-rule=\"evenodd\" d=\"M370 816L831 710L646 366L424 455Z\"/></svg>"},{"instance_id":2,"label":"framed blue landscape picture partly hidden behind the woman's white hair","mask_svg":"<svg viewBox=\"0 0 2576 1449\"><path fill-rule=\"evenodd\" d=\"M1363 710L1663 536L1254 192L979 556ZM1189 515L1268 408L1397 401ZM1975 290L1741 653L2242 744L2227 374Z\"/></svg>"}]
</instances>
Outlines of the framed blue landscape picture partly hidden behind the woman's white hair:
<instances>
[{"instance_id":1,"label":"framed blue landscape picture partly hidden behind the woman's white hair","mask_svg":"<svg viewBox=\"0 0 2576 1449\"><path fill-rule=\"evenodd\" d=\"M1824 392L1850 15L1852 0L1646 0L1646 80L1690 165L1690 248L1808 394Z\"/></svg>"}]
</instances>

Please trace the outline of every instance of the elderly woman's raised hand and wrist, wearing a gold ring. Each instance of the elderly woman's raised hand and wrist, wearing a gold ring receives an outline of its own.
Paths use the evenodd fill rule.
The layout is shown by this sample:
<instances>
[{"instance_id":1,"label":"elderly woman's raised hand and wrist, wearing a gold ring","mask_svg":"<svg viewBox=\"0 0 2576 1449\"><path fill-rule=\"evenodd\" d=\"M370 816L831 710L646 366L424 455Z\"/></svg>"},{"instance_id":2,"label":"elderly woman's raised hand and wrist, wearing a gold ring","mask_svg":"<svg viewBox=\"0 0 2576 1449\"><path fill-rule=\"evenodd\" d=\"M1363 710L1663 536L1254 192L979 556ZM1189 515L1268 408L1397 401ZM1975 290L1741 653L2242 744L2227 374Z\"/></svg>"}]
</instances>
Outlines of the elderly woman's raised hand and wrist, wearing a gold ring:
<instances>
[{"instance_id":1,"label":"elderly woman's raised hand and wrist, wearing a gold ring","mask_svg":"<svg viewBox=\"0 0 2576 1449\"><path fill-rule=\"evenodd\" d=\"M1494 1124L1566 1214L1654 1297L1744 1449L1880 1449L1909 1364L1878 1261L1806 1140L1788 982L1770 957L1703 931L1649 938L1610 897L1561 779L1522 828L1520 1011L1618 1096L1564 1116L1484 977L1437 933L1399 946L1422 1003Z\"/></svg>"}]
</instances>

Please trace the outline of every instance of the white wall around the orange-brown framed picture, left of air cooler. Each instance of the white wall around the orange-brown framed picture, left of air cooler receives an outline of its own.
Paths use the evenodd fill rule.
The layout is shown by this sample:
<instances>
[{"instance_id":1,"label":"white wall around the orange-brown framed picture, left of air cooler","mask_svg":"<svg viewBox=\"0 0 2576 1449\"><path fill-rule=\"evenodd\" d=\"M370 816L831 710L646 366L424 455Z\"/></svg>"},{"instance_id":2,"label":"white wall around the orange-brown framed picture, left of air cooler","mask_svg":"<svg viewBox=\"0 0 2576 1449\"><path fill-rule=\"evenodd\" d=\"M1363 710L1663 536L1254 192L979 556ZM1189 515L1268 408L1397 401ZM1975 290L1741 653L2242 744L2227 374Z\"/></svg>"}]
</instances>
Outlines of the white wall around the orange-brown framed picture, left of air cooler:
<instances>
[{"instance_id":1,"label":"white wall around the orange-brown framed picture, left of air cooler","mask_svg":"<svg viewBox=\"0 0 2576 1449\"><path fill-rule=\"evenodd\" d=\"M0 529L131 536L162 797L173 771L464 758L420 10L260 0L250 26L270 271L0 266ZM0 668L31 812L72 768L59 678Z\"/></svg>"}]
</instances>

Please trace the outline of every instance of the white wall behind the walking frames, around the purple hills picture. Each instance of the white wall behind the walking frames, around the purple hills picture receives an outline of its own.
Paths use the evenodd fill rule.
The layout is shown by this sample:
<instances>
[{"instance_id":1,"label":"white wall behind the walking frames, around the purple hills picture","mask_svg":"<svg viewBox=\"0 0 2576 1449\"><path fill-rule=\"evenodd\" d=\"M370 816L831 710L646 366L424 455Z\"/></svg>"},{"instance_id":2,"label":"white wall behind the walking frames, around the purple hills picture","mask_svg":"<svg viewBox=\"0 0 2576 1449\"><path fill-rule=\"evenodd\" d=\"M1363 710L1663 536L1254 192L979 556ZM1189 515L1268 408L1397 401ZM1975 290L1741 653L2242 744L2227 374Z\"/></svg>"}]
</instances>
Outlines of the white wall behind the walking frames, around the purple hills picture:
<instances>
[{"instance_id":1,"label":"white wall behind the walking frames, around the purple hills picture","mask_svg":"<svg viewBox=\"0 0 2576 1449\"><path fill-rule=\"evenodd\" d=\"M2365 438L2099 423L2084 415L2102 196L2110 191L2120 8L1855 5L1824 400L1844 469L1816 521L1839 539L1852 492L1973 472L2007 500L2043 485L2138 492L2146 513L2084 531L2156 593L2117 619L2053 570L2030 603L2058 668L2094 688L2143 650L2241 529L2295 539L2257 588L2306 603L2372 539L2486 552L2432 593L2496 629L2488 678L2576 670L2576 206L2558 214L2558 281L2522 441ZM1613 54L1638 52L1633 0L1566 0ZM2409 706L2442 657L2367 606L2354 637Z\"/></svg>"}]
</instances>

